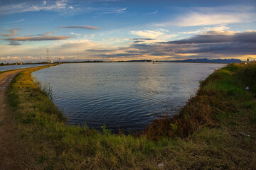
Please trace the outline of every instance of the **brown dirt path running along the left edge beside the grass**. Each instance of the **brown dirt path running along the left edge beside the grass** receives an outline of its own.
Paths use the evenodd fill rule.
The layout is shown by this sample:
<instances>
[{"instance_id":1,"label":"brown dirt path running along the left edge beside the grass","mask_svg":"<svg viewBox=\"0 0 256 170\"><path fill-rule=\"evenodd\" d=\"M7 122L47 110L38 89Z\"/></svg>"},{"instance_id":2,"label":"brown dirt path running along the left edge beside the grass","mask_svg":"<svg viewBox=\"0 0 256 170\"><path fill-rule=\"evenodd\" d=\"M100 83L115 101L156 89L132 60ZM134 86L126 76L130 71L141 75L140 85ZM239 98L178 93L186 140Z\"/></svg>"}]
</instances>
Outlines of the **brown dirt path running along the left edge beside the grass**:
<instances>
[{"instance_id":1,"label":"brown dirt path running along the left edge beside the grass","mask_svg":"<svg viewBox=\"0 0 256 170\"><path fill-rule=\"evenodd\" d=\"M18 165L17 146L14 134L16 132L14 118L9 116L6 108L6 89L14 77L25 69L18 69L0 74L0 169L20 169Z\"/></svg>"}]
</instances>

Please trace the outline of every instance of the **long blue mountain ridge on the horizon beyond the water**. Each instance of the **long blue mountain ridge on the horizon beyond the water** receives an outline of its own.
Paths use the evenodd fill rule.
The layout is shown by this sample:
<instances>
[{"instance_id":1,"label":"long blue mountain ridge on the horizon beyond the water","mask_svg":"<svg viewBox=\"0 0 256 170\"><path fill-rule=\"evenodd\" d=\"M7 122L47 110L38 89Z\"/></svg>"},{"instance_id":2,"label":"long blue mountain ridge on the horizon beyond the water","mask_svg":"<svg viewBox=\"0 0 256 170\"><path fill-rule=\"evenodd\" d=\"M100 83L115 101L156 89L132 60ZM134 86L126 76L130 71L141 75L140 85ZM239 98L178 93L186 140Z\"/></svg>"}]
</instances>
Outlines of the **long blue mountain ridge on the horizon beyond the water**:
<instances>
[{"instance_id":1,"label":"long blue mountain ridge on the horizon beyond the water","mask_svg":"<svg viewBox=\"0 0 256 170\"><path fill-rule=\"evenodd\" d=\"M204 59L187 59L187 60L175 60L175 61L161 61L161 62L207 62L207 63L233 63L233 62L242 62L241 60L238 59L213 59L213 60L208 60L206 58Z\"/></svg>"}]
</instances>

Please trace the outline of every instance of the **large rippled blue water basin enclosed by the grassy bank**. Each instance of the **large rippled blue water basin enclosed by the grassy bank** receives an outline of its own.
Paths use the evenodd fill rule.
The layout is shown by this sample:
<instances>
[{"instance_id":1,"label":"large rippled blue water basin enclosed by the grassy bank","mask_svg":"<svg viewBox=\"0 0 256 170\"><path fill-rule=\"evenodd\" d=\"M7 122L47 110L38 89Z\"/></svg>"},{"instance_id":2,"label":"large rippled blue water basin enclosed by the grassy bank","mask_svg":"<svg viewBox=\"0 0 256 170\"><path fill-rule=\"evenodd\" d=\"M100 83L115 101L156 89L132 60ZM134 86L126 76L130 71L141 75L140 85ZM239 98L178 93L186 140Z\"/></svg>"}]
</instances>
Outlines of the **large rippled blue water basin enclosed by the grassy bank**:
<instances>
[{"instance_id":1,"label":"large rippled blue water basin enclosed by the grassy bank","mask_svg":"<svg viewBox=\"0 0 256 170\"><path fill-rule=\"evenodd\" d=\"M199 81L225 64L61 64L33 75L53 88L53 101L73 125L142 130L155 118L178 113Z\"/></svg>"}]
</instances>

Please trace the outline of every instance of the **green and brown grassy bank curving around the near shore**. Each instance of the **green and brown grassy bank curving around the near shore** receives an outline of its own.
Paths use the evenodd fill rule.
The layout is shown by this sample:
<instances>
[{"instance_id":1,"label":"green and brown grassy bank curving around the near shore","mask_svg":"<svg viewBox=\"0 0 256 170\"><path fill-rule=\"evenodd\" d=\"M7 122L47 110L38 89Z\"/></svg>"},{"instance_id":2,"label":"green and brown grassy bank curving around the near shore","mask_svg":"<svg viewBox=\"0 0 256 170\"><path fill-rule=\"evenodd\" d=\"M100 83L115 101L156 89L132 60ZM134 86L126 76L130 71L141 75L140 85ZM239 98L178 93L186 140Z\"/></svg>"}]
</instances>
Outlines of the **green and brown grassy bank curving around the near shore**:
<instances>
[{"instance_id":1,"label":"green and brown grassy bank curving around the near shore","mask_svg":"<svg viewBox=\"0 0 256 170\"><path fill-rule=\"evenodd\" d=\"M23 169L254 169L256 65L229 64L201 82L178 115L137 136L65 125L65 117L22 72L8 91ZM250 87L250 91L245 90Z\"/></svg>"}]
</instances>

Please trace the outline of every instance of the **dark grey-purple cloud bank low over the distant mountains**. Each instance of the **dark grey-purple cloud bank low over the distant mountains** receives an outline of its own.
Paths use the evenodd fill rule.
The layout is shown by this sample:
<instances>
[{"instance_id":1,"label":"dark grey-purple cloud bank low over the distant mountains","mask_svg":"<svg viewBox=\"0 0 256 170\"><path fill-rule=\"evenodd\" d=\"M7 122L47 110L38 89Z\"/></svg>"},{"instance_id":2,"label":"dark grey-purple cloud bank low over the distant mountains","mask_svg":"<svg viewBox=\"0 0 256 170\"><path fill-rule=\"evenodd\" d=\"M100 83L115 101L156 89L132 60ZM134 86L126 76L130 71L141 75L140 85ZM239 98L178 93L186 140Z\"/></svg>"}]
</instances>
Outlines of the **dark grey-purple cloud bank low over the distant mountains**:
<instances>
[{"instance_id":1,"label":"dark grey-purple cloud bank low over the distant mountains","mask_svg":"<svg viewBox=\"0 0 256 170\"><path fill-rule=\"evenodd\" d=\"M110 58L144 58L157 60L181 60L187 58L240 58L256 53L256 32L209 31L185 40L147 43L146 38L136 38L127 47L120 47L110 54L99 54ZM137 43L136 41L142 41Z\"/></svg>"}]
</instances>

